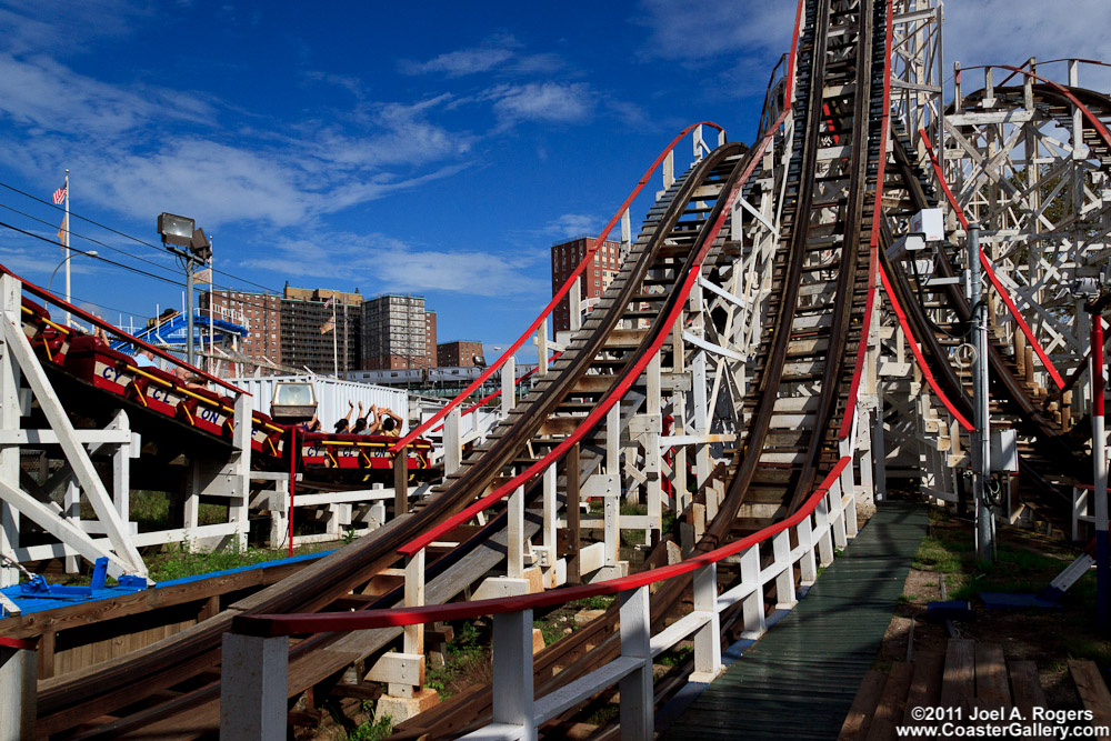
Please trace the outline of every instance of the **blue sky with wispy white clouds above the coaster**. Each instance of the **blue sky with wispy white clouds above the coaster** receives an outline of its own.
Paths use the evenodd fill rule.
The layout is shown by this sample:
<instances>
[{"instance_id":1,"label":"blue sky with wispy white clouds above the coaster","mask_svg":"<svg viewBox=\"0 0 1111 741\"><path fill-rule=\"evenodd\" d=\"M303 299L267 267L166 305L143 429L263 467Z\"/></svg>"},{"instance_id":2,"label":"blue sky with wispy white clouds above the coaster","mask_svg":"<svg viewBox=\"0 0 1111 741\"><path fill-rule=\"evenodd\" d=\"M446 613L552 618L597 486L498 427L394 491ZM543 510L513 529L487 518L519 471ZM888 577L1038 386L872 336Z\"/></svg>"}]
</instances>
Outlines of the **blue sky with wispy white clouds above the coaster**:
<instances>
[{"instance_id":1,"label":"blue sky with wispy white clouds above the coaster","mask_svg":"<svg viewBox=\"0 0 1111 741\"><path fill-rule=\"evenodd\" d=\"M675 132L709 119L752 140L793 6L0 1L0 182L49 199L70 168L74 213L120 232L157 244L159 212L191 216L237 277L423 294L441 341L504 344L550 298L550 244L597 233ZM1070 7L954 0L947 59L1100 58L1109 3ZM60 222L0 204L38 234ZM0 230L0 262L30 280L60 259ZM73 262L74 297L112 321L181 290Z\"/></svg>"}]
</instances>

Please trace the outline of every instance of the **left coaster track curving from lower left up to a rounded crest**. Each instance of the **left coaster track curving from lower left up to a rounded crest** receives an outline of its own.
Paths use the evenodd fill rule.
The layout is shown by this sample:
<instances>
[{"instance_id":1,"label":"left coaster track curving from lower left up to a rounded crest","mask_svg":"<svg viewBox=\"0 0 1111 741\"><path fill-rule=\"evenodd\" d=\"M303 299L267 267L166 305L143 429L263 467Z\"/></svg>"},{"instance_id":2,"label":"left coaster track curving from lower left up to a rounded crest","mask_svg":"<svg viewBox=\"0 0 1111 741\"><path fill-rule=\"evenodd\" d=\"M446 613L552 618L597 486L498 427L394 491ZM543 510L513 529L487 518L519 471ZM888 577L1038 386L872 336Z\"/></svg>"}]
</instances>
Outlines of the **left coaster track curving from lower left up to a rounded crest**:
<instances>
[{"instance_id":1,"label":"left coaster track curving from lower left up to a rounded crest","mask_svg":"<svg viewBox=\"0 0 1111 741\"><path fill-rule=\"evenodd\" d=\"M650 214L644 231L627 258L622 276L610 286L603 301L553 366L552 372L537 384L510 419L489 435L488 443L476 449L464 465L422 502L418 512L173 640L124 660L58 681L44 681L39 697L41 731L57 733L73 729L128 705L131 712L127 718L89 729L82 738L120 737L129 731L189 734L214 728L213 700L218 697L218 685L207 682L208 672L218 665L220 635L232 617L320 610L350 593L373 574L393 565L401 545L461 510L512 470L534 462L536 458L528 451L536 455L538 450L551 449L575 420L583 418L592 400L619 382L638 353L651 344L654 334L663 331L653 320L678 300L672 289L689 272L687 263L701 248L700 237L704 240L709 231L707 224L714 221L715 211L722 210L723 203L717 201L718 196L730 191L741 171L738 166L744 161L743 153L741 144L719 148L675 183L667 198L670 206L664 204L665 208L658 209L659 213ZM624 328L619 327L621 322ZM651 326L643 328L641 323ZM589 458L584 457L583 468L589 468ZM491 528L497 528L497 522ZM491 537L491 528L477 539ZM433 563L428 575L430 591L438 589L434 587L438 575L440 583L449 584L448 591L438 594L440 599L446 601L461 591L469 582L454 577L451 568L459 567L462 557L477 547L477 542L468 543ZM482 567L480 573L491 565ZM368 607L396 602L397 595L388 594ZM350 639L341 635L317 637L302 642L292 658L291 677L296 678L296 687L291 689L302 691L312 687L351 661L378 650L390 638L363 637L358 648L347 647L344 641L350 642ZM197 684L204 687L191 689ZM158 700L161 701L139 707L141 700L154 694L160 694ZM171 695L168 701L167 694Z\"/></svg>"}]
</instances>

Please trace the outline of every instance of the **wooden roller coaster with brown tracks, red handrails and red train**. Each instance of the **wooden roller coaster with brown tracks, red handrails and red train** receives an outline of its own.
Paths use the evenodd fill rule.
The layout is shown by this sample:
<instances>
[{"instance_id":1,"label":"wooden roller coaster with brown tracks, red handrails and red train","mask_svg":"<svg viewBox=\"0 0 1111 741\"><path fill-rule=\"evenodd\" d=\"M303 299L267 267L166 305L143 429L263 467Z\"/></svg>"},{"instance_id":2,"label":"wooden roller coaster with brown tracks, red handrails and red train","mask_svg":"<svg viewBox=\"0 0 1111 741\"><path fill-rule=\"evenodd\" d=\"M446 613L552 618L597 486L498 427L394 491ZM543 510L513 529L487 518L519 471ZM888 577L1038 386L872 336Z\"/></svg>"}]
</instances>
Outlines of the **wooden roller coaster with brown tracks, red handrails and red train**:
<instances>
[{"instance_id":1,"label":"wooden roller coaster with brown tracks, red handrails and red train","mask_svg":"<svg viewBox=\"0 0 1111 741\"><path fill-rule=\"evenodd\" d=\"M932 399L947 410L941 427L953 430L948 444L959 444L972 415L971 380L954 361L972 312L962 287L931 282L914 260L888 257L922 209L945 206L967 227L925 131L908 133L892 114L893 38L899 23L910 22L899 20L898 4L799 3L795 46L784 78L771 88L757 143L705 148L678 179L665 176L619 277L561 354L483 440L466 454L459 451L458 461L446 455L444 471L431 465L431 445L417 435L448 410L400 442L299 433L260 412L251 413L248 431L237 433L238 390L191 389L172 373L139 368L23 298L22 333L63 392L94 390L98 399L126 403L149 424L159 420L209 445L233 447L237 434L246 435L257 471L293 467L331 480L378 475L401 487L410 475L442 474L409 511L371 534L220 605L198 624L140 651L40 680L37 732L73 739L213 735L221 694L229 697L221 674L221 641L229 632L283 642L296 635L288 643L282 699L307 691L319 698L338 691L352 665L366 673L399 647L423 667L423 622L620 592L624 597L603 615L543 648L529 664L538 698L571 698L552 700L538 713L546 728L561 728L587 704L583 688L594 689L600 668L625 667L609 679L625 682L622 700L643 690L624 679L650 663L650 657L630 653L627 629L640 618L627 592L649 583L650 597L635 593L643 595L652 650L662 650L660 637L698 634L697 657L657 678L654 687L649 682L649 711L692 671L712 672L723 643L759 630L765 604L792 602L795 587L815 578L815 551L825 563L855 532L857 481L872 475L874 443L864 444L868 458L859 454L870 415L879 418L883 433L874 367L888 351L887 337L913 346L915 377L929 380ZM1027 87L964 96L949 113L982 109L984 98L1078 126L1088 158L1098 162L1093 171L1107 177L1107 97L1037 78ZM984 263L991 271L988 257ZM959 270L957 244L940 246L933 274L952 279ZM1021 437L1017 499L1067 530L1074 519L1070 490L1091 481L1084 473L1090 457L1077 443L1084 422L1062 410L1069 384L991 276L1007 304L993 318L999 331L990 346L991 423ZM901 334L897 329L881 337L881 287ZM23 289L53 300L40 289ZM747 339L739 311L759 328ZM1042 377L1057 387L1051 392L1033 382L1035 349ZM668 417L682 428L679 433L669 434ZM882 463L881 448L875 464ZM647 514L620 513L623 475L637 480ZM590 498L601 500L601 520L583 518ZM404 499L398 502L400 509ZM674 528L664 527L665 507L677 517ZM621 551L620 528L631 529L620 524L622 517L645 533L640 563ZM600 531L600 539L592 537ZM761 543L770 550L760 550ZM591 585L556 589L585 582ZM481 601L498 594L506 601ZM461 600L471 599L480 601L467 612L471 608ZM454 612L434 607L449 603L459 603ZM640 669L621 663L631 655L639 657ZM402 673L391 674L391 694L419 689L420 681L397 679ZM624 712L621 732L630 734L634 717ZM456 738L504 722L496 689L477 684L397 732Z\"/></svg>"}]
</instances>

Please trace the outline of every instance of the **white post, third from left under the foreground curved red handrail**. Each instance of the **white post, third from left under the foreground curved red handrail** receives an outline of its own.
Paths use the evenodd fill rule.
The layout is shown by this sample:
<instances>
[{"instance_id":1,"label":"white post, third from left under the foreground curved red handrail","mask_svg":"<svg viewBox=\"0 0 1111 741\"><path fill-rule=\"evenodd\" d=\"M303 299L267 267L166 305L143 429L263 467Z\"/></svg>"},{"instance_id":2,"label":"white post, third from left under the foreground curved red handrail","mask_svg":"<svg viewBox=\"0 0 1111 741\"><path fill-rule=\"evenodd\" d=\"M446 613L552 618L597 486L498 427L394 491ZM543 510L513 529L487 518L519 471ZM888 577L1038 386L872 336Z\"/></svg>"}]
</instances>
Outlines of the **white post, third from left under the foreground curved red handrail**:
<instances>
[{"instance_id":1,"label":"white post, third from left under the foreground curved red handrail","mask_svg":"<svg viewBox=\"0 0 1111 741\"><path fill-rule=\"evenodd\" d=\"M621 738L651 739L653 734L651 614L648 587L618 595L621 620L621 658L637 659L639 669L625 674L618 685L621 693ZM529 669L531 670L531 662Z\"/></svg>"}]
</instances>

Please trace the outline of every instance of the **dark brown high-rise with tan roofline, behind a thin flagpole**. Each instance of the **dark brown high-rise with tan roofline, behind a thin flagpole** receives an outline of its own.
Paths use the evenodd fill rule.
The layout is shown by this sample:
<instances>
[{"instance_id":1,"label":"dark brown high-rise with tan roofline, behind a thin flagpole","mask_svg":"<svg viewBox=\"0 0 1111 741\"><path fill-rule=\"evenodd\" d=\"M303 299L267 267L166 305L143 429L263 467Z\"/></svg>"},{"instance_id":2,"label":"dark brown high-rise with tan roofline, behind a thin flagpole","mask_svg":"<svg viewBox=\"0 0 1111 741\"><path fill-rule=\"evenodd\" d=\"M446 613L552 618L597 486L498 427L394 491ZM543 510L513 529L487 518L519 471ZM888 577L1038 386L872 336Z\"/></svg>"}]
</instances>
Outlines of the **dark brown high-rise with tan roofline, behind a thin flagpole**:
<instances>
[{"instance_id":1,"label":"dark brown high-rise with tan roofline, behind a thin flagpole","mask_svg":"<svg viewBox=\"0 0 1111 741\"><path fill-rule=\"evenodd\" d=\"M341 377L358 369L361 307L359 293L287 284L281 299L282 364L316 373L334 370Z\"/></svg>"}]
</instances>

